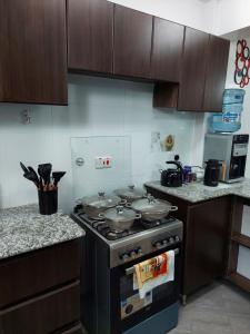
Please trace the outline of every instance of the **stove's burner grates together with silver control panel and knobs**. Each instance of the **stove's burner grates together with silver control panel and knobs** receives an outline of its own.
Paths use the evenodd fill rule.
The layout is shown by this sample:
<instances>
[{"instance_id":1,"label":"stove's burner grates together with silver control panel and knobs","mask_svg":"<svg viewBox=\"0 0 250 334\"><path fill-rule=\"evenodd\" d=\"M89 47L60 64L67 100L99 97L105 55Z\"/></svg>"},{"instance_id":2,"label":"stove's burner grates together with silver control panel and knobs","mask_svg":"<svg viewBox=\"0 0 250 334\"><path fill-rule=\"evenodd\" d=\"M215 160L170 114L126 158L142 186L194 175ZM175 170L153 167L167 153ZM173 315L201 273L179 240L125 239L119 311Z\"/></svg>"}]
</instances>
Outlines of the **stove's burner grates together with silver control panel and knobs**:
<instances>
[{"instance_id":1,"label":"stove's burner grates together with silver control panel and knobs","mask_svg":"<svg viewBox=\"0 0 250 334\"><path fill-rule=\"evenodd\" d=\"M72 218L93 238L109 248L109 266L116 267L153 252L174 248L182 242L182 222L173 217L161 220L137 220L130 229L113 230L104 220L94 220L83 212Z\"/></svg>"}]
</instances>

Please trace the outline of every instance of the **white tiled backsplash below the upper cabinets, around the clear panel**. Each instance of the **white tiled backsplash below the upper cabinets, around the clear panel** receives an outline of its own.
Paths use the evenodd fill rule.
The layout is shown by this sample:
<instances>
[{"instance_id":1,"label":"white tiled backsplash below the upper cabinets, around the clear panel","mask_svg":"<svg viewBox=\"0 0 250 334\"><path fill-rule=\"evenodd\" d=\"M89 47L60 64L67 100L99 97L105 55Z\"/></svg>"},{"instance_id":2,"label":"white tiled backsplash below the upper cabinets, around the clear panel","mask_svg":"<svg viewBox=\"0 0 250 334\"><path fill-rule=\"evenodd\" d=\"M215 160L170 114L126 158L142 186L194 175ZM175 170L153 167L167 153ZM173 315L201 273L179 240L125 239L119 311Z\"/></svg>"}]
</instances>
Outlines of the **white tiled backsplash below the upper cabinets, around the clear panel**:
<instances>
[{"instance_id":1,"label":"white tiled backsplash below the upper cabinets, around the clear panel","mask_svg":"<svg viewBox=\"0 0 250 334\"><path fill-rule=\"evenodd\" d=\"M203 114L152 108L153 85L106 78L69 76L69 106L0 104L0 207L37 202L34 186L22 177L19 161L37 167L51 161L67 170L60 207L72 208L72 137L129 136L131 174L137 185L158 179L159 168L179 154L184 164L200 164ZM31 124L23 125L28 108ZM152 151L151 134L173 135L174 150ZM116 173L113 175L116 181Z\"/></svg>"}]
</instances>

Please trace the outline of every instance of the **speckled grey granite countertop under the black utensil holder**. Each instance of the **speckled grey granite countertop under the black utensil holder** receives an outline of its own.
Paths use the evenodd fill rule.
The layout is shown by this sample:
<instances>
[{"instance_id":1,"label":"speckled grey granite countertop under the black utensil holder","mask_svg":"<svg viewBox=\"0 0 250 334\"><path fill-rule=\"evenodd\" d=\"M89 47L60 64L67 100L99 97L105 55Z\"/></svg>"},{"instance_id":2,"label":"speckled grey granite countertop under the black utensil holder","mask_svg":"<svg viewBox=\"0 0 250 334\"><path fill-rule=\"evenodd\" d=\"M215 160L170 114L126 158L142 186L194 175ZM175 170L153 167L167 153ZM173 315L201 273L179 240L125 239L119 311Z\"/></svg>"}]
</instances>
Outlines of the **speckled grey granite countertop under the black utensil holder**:
<instances>
[{"instance_id":1,"label":"speckled grey granite countertop under the black utensil holder","mask_svg":"<svg viewBox=\"0 0 250 334\"><path fill-rule=\"evenodd\" d=\"M0 259L83 235L83 229L69 216L42 216L38 205L0 209Z\"/></svg>"}]
</instances>

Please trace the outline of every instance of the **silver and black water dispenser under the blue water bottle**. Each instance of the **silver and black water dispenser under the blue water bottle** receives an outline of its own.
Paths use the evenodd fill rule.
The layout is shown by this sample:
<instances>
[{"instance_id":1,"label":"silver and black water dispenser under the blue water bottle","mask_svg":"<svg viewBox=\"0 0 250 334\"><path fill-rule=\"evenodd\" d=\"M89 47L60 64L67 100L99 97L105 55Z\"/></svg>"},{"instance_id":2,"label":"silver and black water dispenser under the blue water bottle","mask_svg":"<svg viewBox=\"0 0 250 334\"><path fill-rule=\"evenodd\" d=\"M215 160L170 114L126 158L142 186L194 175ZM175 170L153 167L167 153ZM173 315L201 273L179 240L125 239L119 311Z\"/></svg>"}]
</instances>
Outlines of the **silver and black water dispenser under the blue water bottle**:
<instances>
[{"instance_id":1,"label":"silver and black water dispenser under the blue water bottle","mask_svg":"<svg viewBox=\"0 0 250 334\"><path fill-rule=\"evenodd\" d=\"M220 160L220 180L236 183L244 178L249 135L208 134L203 161Z\"/></svg>"}]
</instances>

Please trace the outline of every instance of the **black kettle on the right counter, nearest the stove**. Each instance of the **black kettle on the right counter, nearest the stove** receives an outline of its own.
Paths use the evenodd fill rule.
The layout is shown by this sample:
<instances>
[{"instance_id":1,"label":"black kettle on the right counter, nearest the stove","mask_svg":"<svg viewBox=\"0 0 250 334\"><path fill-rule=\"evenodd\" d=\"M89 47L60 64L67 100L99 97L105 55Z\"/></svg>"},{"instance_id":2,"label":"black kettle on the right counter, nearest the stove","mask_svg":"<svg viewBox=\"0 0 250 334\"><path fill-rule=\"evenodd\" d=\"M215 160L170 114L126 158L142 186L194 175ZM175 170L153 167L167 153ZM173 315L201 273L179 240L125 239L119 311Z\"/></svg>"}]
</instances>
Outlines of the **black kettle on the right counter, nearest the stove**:
<instances>
[{"instance_id":1,"label":"black kettle on the right counter, nearest the stove","mask_svg":"<svg viewBox=\"0 0 250 334\"><path fill-rule=\"evenodd\" d=\"M180 161L167 161L168 165L176 165L177 168L161 170L161 185L164 187L181 187L183 180L183 168Z\"/></svg>"}]
</instances>

